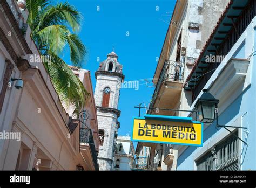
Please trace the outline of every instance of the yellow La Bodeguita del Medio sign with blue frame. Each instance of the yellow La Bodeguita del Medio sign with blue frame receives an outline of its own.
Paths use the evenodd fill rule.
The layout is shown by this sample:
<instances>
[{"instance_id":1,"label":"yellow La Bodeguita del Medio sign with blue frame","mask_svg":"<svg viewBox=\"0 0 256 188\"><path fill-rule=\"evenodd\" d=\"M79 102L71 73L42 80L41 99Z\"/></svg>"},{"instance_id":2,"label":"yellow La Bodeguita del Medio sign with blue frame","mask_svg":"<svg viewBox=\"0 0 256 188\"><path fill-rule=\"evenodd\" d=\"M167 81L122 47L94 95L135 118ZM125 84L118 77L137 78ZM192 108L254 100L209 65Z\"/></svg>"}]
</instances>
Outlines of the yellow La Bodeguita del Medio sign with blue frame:
<instances>
[{"instance_id":1,"label":"yellow La Bodeguita del Medio sign with blue frame","mask_svg":"<svg viewBox=\"0 0 256 188\"><path fill-rule=\"evenodd\" d=\"M203 123L191 117L134 117L132 141L203 146Z\"/></svg>"}]
</instances>

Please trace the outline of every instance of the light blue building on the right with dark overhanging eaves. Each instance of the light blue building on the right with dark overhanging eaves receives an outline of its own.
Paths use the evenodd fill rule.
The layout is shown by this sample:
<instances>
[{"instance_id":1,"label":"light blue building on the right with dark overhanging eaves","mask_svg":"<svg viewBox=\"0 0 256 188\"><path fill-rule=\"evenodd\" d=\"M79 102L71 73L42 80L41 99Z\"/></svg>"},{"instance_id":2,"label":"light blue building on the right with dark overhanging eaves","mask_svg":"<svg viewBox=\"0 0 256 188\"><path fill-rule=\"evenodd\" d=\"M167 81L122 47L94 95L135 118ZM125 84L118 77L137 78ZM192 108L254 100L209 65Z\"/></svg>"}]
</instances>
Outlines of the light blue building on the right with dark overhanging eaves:
<instances>
[{"instance_id":1,"label":"light blue building on the right with dark overhanging eaves","mask_svg":"<svg viewBox=\"0 0 256 188\"><path fill-rule=\"evenodd\" d=\"M203 147L174 145L177 170L256 170L255 11L255 0L228 4L184 87L192 95L191 110L203 89L219 99L218 123L246 127L228 129L247 145L216 121L205 123Z\"/></svg>"}]
</instances>

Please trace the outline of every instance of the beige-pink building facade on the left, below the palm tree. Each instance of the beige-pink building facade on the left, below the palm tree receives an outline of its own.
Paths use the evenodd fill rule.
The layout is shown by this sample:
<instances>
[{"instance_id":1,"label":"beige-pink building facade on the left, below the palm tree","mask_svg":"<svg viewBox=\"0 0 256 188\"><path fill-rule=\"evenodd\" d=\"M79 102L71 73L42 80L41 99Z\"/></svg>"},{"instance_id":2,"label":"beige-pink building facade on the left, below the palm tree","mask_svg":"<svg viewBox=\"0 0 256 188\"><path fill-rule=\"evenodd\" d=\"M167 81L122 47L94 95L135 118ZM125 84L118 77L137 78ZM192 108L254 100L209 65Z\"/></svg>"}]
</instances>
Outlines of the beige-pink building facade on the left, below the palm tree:
<instances>
[{"instance_id":1,"label":"beige-pink building facade on the left, below the palm tree","mask_svg":"<svg viewBox=\"0 0 256 188\"><path fill-rule=\"evenodd\" d=\"M18 13L21 18L12 16ZM19 9L16 1L1 1L0 131L21 137L0 140L0 170L95 170L92 159L79 151L79 126L71 133L71 118L44 65L30 61L31 55L40 54L29 26L25 36L21 33L27 17L28 10ZM16 89L15 82L6 87L11 77L23 79L23 88Z\"/></svg>"}]
</instances>

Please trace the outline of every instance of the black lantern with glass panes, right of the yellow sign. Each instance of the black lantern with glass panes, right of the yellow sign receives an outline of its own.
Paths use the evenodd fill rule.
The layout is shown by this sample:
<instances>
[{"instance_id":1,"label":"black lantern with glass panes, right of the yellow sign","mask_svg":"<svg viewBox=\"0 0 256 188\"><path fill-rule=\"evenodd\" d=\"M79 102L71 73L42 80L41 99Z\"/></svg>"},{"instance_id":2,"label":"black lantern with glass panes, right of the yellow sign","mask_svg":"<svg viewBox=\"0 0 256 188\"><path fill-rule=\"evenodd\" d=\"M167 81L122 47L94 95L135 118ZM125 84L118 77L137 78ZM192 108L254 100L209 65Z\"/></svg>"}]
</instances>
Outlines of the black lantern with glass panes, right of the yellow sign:
<instances>
[{"instance_id":1,"label":"black lantern with glass panes, right of the yellow sign","mask_svg":"<svg viewBox=\"0 0 256 188\"><path fill-rule=\"evenodd\" d=\"M199 121L203 123L212 123L215 119L215 108L219 103L218 99L208 92L208 89L203 90L203 95L196 102Z\"/></svg>"}]
</instances>

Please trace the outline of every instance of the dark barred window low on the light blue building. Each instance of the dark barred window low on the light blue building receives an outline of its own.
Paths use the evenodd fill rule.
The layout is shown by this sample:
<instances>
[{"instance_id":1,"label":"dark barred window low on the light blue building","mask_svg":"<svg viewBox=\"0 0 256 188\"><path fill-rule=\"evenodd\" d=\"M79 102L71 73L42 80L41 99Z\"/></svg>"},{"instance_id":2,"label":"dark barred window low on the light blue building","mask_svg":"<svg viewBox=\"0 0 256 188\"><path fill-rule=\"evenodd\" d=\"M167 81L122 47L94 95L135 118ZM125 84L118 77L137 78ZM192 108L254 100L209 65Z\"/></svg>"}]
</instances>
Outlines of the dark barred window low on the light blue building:
<instances>
[{"instance_id":1,"label":"dark barred window low on the light blue building","mask_svg":"<svg viewBox=\"0 0 256 188\"><path fill-rule=\"evenodd\" d=\"M235 133L238 135L237 133ZM231 135L196 161L197 170L238 170L238 138Z\"/></svg>"}]
</instances>

